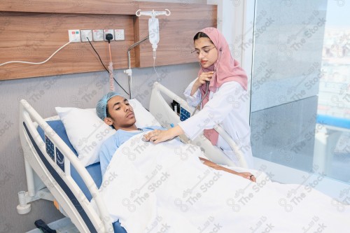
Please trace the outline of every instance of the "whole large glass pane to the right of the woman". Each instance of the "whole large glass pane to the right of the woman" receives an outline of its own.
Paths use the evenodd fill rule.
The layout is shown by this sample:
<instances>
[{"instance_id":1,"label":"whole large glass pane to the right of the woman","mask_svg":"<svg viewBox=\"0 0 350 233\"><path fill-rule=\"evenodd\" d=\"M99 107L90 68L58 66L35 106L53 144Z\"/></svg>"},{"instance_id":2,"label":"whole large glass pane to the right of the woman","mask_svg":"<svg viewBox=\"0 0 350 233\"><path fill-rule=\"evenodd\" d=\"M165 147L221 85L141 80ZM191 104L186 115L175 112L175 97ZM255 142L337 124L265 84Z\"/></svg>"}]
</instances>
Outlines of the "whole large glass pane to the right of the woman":
<instances>
[{"instance_id":1,"label":"whole large glass pane to the right of the woman","mask_svg":"<svg viewBox=\"0 0 350 233\"><path fill-rule=\"evenodd\" d=\"M255 1L255 157L350 182L349 12L344 1Z\"/></svg>"}]
</instances>

